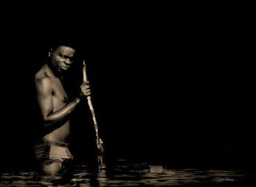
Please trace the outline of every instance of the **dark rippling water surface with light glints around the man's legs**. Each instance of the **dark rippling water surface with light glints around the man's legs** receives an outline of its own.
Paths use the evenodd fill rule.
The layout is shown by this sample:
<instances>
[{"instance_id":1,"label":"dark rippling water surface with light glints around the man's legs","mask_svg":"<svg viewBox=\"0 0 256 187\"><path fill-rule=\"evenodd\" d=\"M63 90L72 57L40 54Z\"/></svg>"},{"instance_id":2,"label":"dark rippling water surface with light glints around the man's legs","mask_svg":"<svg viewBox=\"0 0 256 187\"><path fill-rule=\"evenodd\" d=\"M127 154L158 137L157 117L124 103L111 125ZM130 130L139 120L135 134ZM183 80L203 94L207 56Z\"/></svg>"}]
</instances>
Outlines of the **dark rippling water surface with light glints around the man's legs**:
<instances>
[{"instance_id":1,"label":"dark rippling water surface with light glints around the man's legs","mask_svg":"<svg viewBox=\"0 0 256 187\"><path fill-rule=\"evenodd\" d=\"M117 164L91 172L86 165L76 165L58 175L38 172L4 172L0 186L246 186L251 175L241 170L170 170L149 172L148 164L132 164L118 160Z\"/></svg>"}]
</instances>

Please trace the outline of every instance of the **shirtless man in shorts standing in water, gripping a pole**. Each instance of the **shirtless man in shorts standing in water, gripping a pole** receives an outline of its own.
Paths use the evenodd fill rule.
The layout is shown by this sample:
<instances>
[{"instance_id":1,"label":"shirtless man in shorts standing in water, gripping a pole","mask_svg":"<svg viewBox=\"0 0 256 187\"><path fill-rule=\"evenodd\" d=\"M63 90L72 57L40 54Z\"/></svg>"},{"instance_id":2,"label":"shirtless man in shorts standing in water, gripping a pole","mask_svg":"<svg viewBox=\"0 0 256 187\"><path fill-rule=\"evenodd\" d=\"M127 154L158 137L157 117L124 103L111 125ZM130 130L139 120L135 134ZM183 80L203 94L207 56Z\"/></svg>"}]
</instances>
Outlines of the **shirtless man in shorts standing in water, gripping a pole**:
<instances>
[{"instance_id":1,"label":"shirtless man in shorts standing in water, gripping a pole","mask_svg":"<svg viewBox=\"0 0 256 187\"><path fill-rule=\"evenodd\" d=\"M35 146L35 156L45 172L59 172L62 162L72 159L67 148L69 114L74 111L81 98L91 95L88 82L80 86L75 100L69 100L61 82L72 65L75 47L59 44L49 52L49 60L34 77L37 101L46 131L42 141Z\"/></svg>"}]
</instances>

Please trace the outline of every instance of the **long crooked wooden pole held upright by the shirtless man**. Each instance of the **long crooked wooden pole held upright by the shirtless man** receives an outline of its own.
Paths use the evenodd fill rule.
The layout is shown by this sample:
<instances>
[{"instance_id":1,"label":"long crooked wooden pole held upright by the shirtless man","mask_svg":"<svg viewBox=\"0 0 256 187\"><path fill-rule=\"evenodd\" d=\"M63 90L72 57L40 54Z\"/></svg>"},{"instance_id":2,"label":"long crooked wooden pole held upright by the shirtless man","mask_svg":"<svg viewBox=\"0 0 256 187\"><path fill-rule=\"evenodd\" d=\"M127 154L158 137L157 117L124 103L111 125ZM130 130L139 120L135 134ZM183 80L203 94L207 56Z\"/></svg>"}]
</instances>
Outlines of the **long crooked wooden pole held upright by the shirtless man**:
<instances>
[{"instance_id":1,"label":"long crooked wooden pole held upright by the shirtless man","mask_svg":"<svg viewBox=\"0 0 256 187\"><path fill-rule=\"evenodd\" d=\"M84 60L83 60L83 81L88 81L87 75L86 75L86 62ZM97 161L98 161L99 171L101 171L103 167L103 151L104 151L104 148L102 146L103 141L101 138L99 138L99 132L98 132L99 130L98 130L96 117L94 114L94 107L92 106L92 103L91 103L91 96L87 96L87 100L88 100L88 105L91 111L91 116L94 121L94 129L96 133L96 143L97 143L97 149L98 149Z\"/></svg>"}]
</instances>

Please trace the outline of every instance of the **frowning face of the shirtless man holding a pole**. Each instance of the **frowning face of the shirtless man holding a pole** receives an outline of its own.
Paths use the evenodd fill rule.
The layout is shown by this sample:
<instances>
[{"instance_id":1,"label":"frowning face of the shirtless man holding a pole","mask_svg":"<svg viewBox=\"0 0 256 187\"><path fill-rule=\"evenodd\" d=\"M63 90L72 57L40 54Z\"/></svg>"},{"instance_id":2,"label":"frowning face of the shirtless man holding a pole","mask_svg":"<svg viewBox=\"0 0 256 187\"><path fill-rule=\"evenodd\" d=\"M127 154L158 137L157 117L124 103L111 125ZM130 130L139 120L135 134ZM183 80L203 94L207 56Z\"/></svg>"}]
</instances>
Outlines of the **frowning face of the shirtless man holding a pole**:
<instances>
[{"instance_id":1,"label":"frowning face of the shirtless man holding a pole","mask_svg":"<svg viewBox=\"0 0 256 187\"><path fill-rule=\"evenodd\" d=\"M75 49L72 47L60 46L51 55L51 63L60 71L67 71L72 65Z\"/></svg>"}]
</instances>

